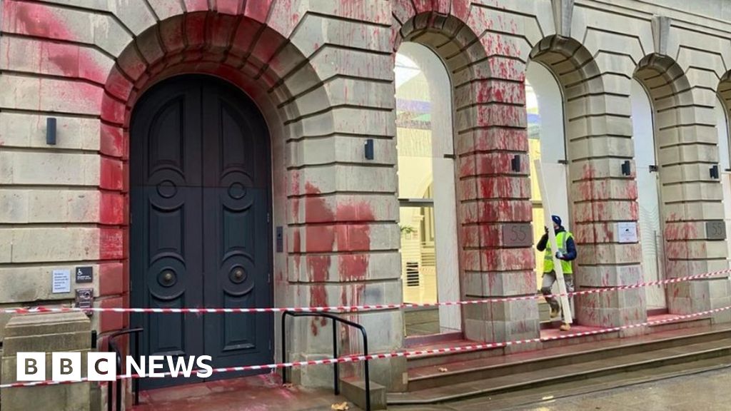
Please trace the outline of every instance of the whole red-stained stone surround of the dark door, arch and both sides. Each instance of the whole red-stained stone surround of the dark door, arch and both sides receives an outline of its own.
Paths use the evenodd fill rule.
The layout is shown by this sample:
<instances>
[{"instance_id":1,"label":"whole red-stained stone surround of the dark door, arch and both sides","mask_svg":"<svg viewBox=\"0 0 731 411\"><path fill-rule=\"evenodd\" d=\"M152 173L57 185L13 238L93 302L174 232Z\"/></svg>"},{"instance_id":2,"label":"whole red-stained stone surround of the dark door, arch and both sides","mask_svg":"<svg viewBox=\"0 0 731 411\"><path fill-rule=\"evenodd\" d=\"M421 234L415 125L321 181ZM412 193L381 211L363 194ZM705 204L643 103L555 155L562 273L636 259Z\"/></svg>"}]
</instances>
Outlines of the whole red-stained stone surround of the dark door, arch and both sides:
<instances>
[{"instance_id":1,"label":"whole red-stained stone surround of the dark door, arch and both sides","mask_svg":"<svg viewBox=\"0 0 731 411\"><path fill-rule=\"evenodd\" d=\"M205 1L203 2L205 4ZM210 3L208 3L210 4ZM215 3L214 3L215 4ZM146 29L115 56L105 78L101 99L101 149L102 183L104 189L100 209L122 232L124 245L117 243L118 237L102 238L102 254L108 248L118 252L126 260L126 244L129 244L129 122L132 108L139 97L160 81L181 74L213 75L238 86L251 97L260 108L270 132L272 165L273 226L289 227L303 222L298 220L300 201L300 173L297 170L295 150L292 142L302 140L308 133L308 124L317 119L318 124L333 124L330 97L322 89L323 80L311 66L308 58L288 38L300 20L297 18L269 18L278 6L262 7L264 10L208 9L208 5L197 10L167 16ZM265 2L249 2L261 4ZM279 3L277 3L279 4ZM289 12L289 10L287 10ZM287 27L271 26L269 21ZM306 96L307 104L298 101ZM292 217L292 214L295 217ZM115 231L116 233L116 231ZM285 244L287 242L285 241ZM116 254L115 254L116 255ZM291 292L285 284L289 275L289 253L275 254L274 270L278 279L272 279L274 304L306 305L302 301L287 301ZM124 270L128 270L124 265ZM129 278L124 273L124 278ZM272 274L273 275L273 274ZM100 287L106 279L100 279ZM115 284L120 282L114 279ZM121 292L129 292L129 282L122 282ZM289 293L289 294L288 294ZM128 299L124 300L129 303ZM315 305L325 305L313 301ZM107 313L105 313L107 315ZM124 324L127 317L118 317L115 323ZM303 325L304 328L304 325ZM295 344L296 345L296 344ZM295 346L296 349L307 350Z\"/></svg>"}]
</instances>

